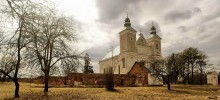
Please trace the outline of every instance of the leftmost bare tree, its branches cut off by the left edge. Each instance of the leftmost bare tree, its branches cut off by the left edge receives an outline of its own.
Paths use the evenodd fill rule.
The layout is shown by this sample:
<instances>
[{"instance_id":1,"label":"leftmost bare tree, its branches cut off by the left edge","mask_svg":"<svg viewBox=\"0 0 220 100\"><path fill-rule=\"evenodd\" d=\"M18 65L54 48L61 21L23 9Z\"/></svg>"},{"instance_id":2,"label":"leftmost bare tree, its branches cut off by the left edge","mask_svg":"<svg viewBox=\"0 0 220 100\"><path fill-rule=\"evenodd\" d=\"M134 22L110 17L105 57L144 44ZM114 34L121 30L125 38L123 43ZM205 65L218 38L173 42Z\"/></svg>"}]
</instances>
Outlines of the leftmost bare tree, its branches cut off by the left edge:
<instances>
[{"instance_id":1,"label":"leftmost bare tree, its branches cut off by the left edge","mask_svg":"<svg viewBox=\"0 0 220 100\"><path fill-rule=\"evenodd\" d=\"M32 18L32 12L37 11L35 9L37 3L32 2L32 0L5 0L5 2L7 5L1 10L1 13L5 14L7 19L12 19L14 24L12 27L15 28L15 30L10 30L10 34L13 35L7 38L4 45L15 48L16 64L13 74L7 74L1 69L0 71L15 83L15 97L19 97L19 69L21 68L21 62L25 54L24 50L26 50L26 46L31 42L26 29L30 25L29 19Z\"/></svg>"}]
</instances>

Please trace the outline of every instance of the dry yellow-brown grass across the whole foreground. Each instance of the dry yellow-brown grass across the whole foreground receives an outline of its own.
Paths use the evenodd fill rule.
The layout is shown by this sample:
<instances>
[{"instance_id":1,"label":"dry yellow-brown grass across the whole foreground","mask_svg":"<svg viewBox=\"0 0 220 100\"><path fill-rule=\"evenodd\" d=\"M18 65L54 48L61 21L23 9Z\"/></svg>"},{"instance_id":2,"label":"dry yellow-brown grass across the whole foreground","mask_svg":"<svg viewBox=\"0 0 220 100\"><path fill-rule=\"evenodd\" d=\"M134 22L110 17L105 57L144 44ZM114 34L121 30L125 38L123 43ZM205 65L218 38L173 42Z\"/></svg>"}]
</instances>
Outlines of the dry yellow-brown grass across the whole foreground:
<instances>
[{"instance_id":1,"label":"dry yellow-brown grass across the whole foreground","mask_svg":"<svg viewBox=\"0 0 220 100\"><path fill-rule=\"evenodd\" d=\"M110 92L104 88L49 88L48 96L43 92L43 85L20 83L20 99L28 100L220 100L220 86L172 85L171 91L166 86L154 87L116 87ZM13 99L14 84L0 83L0 99Z\"/></svg>"}]
</instances>

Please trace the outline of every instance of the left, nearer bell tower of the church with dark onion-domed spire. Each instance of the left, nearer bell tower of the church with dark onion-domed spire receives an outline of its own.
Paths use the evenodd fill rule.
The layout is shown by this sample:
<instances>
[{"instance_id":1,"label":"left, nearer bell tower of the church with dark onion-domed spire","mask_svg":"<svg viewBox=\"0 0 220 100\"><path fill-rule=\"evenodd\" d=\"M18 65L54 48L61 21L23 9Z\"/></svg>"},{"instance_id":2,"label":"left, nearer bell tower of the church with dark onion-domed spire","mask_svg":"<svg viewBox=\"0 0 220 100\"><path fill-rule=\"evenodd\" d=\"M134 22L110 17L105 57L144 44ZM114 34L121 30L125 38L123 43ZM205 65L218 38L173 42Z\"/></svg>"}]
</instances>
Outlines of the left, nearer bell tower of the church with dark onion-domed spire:
<instances>
[{"instance_id":1,"label":"left, nearer bell tower of the church with dark onion-domed spire","mask_svg":"<svg viewBox=\"0 0 220 100\"><path fill-rule=\"evenodd\" d=\"M135 52L135 42L136 42L137 31L131 27L130 19L125 19L124 29L119 32L120 35L120 53L123 52Z\"/></svg>"}]
</instances>

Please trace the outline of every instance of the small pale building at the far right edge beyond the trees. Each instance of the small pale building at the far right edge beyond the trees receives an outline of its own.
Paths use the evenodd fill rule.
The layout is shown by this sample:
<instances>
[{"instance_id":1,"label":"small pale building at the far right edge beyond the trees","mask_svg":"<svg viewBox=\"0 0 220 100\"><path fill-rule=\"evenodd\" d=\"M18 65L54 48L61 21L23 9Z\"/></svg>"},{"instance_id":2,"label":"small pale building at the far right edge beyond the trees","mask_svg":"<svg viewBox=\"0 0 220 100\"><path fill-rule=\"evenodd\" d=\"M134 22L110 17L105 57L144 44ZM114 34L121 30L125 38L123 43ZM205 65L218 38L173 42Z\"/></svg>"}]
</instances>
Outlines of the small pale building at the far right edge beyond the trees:
<instances>
[{"instance_id":1,"label":"small pale building at the far right edge beyond the trees","mask_svg":"<svg viewBox=\"0 0 220 100\"><path fill-rule=\"evenodd\" d=\"M207 84L218 85L218 74L216 71L207 74Z\"/></svg>"}]
</instances>

